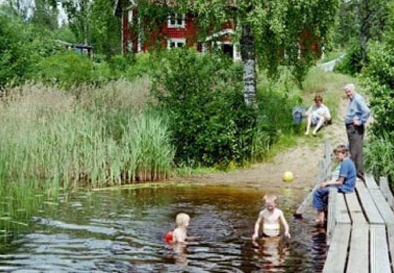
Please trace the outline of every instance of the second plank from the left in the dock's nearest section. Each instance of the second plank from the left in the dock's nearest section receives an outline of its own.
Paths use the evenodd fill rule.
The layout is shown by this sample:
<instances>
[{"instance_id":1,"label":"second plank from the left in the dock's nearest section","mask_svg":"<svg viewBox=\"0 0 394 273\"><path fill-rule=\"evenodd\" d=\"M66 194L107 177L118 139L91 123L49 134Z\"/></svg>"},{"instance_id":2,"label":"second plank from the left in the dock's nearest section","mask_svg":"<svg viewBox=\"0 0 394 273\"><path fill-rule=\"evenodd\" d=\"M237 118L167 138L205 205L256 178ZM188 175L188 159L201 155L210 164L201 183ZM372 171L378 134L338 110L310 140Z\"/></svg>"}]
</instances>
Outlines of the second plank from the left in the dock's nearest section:
<instances>
[{"instance_id":1,"label":"second plank from the left in the dock's nearest section","mask_svg":"<svg viewBox=\"0 0 394 273\"><path fill-rule=\"evenodd\" d=\"M350 248L347 273L368 273L368 224L353 224L350 234Z\"/></svg>"}]
</instances>

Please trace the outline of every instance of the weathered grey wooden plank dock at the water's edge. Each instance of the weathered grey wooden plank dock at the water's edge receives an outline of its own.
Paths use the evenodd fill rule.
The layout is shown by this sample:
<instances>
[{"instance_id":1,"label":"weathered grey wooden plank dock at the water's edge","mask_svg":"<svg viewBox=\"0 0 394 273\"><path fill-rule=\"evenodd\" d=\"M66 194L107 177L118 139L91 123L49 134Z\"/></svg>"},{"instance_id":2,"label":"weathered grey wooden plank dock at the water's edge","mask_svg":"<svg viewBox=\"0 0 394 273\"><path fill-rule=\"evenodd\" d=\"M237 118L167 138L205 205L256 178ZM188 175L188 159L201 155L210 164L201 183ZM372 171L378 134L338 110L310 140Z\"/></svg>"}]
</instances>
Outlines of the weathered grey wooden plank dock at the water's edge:
<instances>
[{"instance_id":1,"label":"weathered grey wooden plank dock at the water's edge","mask_svg":"<svg viewBox=\"0 0 394 273\"><path fill-rule=\"evenodd\" d=\"M387 178L357 180L355 193L330 189L324 273L394 272L394 198Z\"/></svg>"}]
</instances>

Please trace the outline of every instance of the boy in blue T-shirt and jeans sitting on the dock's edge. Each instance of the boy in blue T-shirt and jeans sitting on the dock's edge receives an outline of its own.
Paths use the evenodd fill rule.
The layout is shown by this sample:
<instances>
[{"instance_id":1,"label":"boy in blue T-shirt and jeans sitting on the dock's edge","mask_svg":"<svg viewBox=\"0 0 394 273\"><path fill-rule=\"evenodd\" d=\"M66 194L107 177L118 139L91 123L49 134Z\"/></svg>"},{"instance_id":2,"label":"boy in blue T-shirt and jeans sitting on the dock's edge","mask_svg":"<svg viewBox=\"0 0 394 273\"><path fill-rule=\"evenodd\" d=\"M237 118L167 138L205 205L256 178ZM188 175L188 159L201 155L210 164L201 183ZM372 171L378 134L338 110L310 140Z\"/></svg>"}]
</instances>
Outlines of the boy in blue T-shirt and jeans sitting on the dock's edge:
<instances>
[{"instance_id":1,"label":"boy in blue T-shirt and jeans sitting on the dock's edge","mask_svg":"<svg viewBox=\"0 0 394 273\"><path fill-rule=\"evenodd\" d=\"M324 211L327 207L329 187L337 187L340 193L352 193L356 185L356 168L348 157L348 148L339 145L334 149L336 159L340 162L337 180L323 182L320 189L313 193L313 207L317 210L316 224L324 223Z\"/></svg>"}]
</instances>

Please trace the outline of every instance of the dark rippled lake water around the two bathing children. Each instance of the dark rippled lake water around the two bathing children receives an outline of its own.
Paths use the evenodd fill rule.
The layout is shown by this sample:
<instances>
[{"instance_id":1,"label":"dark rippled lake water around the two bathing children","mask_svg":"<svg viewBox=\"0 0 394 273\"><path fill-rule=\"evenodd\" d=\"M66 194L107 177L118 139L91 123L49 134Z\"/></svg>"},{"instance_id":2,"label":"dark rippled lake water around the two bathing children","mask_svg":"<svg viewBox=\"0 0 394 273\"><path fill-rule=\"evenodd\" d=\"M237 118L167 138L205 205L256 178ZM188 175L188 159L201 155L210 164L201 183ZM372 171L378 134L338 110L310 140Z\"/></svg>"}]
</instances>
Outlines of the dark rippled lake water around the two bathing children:
<instances>
[{"instance_id":1,"label":"dark rippled lake water around the two bathing children","mask_svg":"<svg viewBox=\"0 0 394 273\"><path fill-rule=\"evenodd\" d=\"M28 232L3 246L0 271L319 272L325 234L292 213L305 192L277 191L291 239L251 243L263 192L229 186L80 192L47 202ZM191 216L201 238L183 253L163 235L175 215Z\"/></svg>"}]
</instances>

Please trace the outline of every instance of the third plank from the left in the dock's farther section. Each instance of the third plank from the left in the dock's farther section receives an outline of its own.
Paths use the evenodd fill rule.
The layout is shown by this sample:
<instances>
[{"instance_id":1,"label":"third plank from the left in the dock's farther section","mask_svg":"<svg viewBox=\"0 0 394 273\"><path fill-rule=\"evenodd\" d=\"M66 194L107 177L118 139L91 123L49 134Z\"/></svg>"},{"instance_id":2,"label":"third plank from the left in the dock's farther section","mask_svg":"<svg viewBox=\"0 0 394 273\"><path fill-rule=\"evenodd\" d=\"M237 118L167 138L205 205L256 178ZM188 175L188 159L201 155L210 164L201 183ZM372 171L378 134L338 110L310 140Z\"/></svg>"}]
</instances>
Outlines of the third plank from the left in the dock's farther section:
<instances>
[{"instance_id":1,"label":"third plank from the left in the dock's farther section","mask_svg":"<svg viewBox=\"0 0 394 273\"><path fill-rule=\"evenodd\" d=\"M375 206L375 202L368 189L364 186L364 183L357 183L356 191L359 195L362 209L365 213L368 223L371 225L385 225L385 221L381 217L378 209Z\"/></svg>"}]
</instances>

